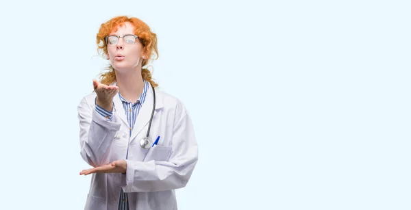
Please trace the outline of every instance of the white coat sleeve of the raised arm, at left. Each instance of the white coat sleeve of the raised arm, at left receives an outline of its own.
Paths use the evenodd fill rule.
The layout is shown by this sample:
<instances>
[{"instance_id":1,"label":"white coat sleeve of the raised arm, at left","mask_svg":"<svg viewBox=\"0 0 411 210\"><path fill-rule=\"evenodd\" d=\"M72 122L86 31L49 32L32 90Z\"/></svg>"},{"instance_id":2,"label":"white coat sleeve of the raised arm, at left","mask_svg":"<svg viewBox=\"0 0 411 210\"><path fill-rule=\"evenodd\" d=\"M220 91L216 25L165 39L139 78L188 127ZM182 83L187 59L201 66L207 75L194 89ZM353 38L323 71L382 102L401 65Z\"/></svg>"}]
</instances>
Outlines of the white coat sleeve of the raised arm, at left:
<instances>
[{"instance_id":1,"label":"white coat sleeve of the raised arm, at left","mask_svg":"<svg viewBox=\"0 0 411 210\"><path fill-rule=\"evenodd\" d=\"M85 98L77 107L79 118L80 155L90 166L97 167L110 163L112 140L119 131L121 123L117 122L115 113L93 109Z\"/></svg>"}]
</instances>

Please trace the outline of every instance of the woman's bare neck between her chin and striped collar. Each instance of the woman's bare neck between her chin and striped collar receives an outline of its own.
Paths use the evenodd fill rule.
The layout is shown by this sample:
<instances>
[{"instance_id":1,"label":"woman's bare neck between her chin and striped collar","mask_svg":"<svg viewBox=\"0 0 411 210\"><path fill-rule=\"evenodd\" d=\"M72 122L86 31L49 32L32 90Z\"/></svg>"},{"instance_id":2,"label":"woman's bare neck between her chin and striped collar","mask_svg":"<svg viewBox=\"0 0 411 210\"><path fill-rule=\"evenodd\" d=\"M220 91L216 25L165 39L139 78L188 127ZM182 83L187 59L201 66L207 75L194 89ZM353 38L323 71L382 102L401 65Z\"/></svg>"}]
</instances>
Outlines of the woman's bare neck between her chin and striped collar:
<instances>
[{"instance_id":1,"label":"woman's bare neck between her chin and striped collar","mask_svg":"<svg viewBox=\"0 0 411 210\"><path fill-rule=\"evenodd\" d=\"M132 70L123 74L116 72L116 81L121 96L129 102L136 102L144 88L141 70Z\"/></svg>"}]
</instances>

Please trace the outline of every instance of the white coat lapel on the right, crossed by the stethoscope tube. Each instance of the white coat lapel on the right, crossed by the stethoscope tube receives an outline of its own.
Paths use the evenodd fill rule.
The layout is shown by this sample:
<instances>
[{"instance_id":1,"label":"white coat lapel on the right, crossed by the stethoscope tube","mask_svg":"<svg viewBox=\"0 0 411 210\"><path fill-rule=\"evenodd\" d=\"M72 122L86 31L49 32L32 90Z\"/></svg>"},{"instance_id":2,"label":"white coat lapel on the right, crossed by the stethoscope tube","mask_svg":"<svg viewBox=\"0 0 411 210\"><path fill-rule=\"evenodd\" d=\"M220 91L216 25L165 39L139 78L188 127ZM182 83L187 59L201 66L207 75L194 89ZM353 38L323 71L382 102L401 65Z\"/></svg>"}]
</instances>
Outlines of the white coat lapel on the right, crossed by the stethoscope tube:
<instances>
[{"instance_id":1,"label":"white coat lapel on the right, crossed by the stethoscope tube","mask_svg":"<svg viewBox=\"0 0 411 210\"><path fill-rule=\"evenodd\" d=\"M151 118L151 111L153 111L153 89L151 85L147 90L147 95L145 102L142 104L140 108L140 112L136 118L136 123L134 124L134 129L132 131L131 140L134 141L134 138L140 134L140 132L144 129L144 133L141 133L141 137L145 137L147 135L147 129L149 127L149 121ZM158 91L155 92L155 111L153 114L153 118L155 118L155 114L158 113L158 109L163 107L163 98L160 96ZM153 129L153 122L151 122L151 129ZM152 131L150 131L151 133ZM140 141L138 139L137 141Z\"/></svg>"}]
</instances>

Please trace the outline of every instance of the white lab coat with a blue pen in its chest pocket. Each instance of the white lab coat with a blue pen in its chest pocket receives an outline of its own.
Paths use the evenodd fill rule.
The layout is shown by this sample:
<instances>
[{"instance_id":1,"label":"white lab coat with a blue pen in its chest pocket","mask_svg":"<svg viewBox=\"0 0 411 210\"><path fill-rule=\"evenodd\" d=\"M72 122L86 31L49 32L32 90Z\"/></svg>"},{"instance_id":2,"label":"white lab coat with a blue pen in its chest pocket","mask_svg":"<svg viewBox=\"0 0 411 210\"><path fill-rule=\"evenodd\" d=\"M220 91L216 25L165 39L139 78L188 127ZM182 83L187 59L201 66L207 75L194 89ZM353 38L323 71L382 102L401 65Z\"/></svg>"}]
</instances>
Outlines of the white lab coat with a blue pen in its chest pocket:
<instances>
[{"instance_id":1,"label":"white lab coat with a blue pen in its chest pocket","mask_svg":"<svg viewBox=\"0 0 411 210\"><path fill-rule=\"evenodd\" d=\"M129 144L126 174L92 174L86 210L116 210L121 188L128 193L129 209L177 209L174 189L186 186L190 179L198 158L197 142L182 102L157 89L155 96L149 137L154 141L160 135L160 140L149 149L142 148L140 140L147 134L153 109L151 86L131 137L118 95L113 99L112 122L95 111L95 92L79 103L80 154L90 166L125 159Z\"/></svg>"}]
</instances>

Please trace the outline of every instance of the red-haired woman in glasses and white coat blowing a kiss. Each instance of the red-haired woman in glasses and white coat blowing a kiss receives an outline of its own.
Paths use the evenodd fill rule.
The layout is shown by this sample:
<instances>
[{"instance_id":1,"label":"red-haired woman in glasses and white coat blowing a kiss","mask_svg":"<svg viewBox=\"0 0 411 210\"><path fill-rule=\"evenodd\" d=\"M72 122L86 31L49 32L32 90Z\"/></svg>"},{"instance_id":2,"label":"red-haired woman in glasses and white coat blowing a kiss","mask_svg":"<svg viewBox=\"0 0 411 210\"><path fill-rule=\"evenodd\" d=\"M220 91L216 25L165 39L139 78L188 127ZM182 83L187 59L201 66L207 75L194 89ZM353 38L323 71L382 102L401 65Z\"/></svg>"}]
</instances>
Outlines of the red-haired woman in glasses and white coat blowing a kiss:
<instances>
[{"instance_id":1,"label":"red-haired woman in glasses and white coat blowing a kiss","mask_svg":"<svg viewBox=\"0 0 411 210\"><path fill-rule=\"evenodd\" d=\"M81 155L93 167L80 172L92 174L85 209L177 209L174 189L188 183L198 150L182 102L154 90L142 68L158 55L156 35L119 16L101 25L97 45L110 66L78 106Z\"/></svg>"}]
</instances>

